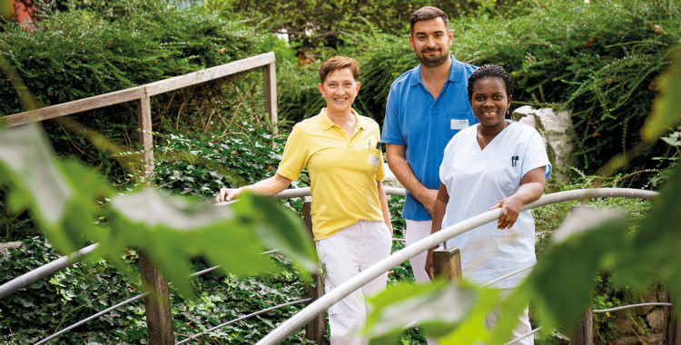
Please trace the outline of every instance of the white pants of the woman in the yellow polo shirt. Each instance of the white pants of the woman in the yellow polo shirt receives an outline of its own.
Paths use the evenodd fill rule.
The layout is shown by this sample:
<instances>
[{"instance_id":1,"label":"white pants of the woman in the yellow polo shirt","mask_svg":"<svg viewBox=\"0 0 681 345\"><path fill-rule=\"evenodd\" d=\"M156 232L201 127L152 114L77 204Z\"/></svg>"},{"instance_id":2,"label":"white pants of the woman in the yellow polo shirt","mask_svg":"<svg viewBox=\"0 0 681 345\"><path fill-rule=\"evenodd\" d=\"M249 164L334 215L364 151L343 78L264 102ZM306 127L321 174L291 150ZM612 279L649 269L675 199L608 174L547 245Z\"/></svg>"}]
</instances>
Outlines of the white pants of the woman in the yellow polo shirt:
<instances>
[{"instance_id":1,"label":"white pants of the woman in the yellow polo shirt","mask_svg":"<svg viewBox=\"0 0 681 345\"><path fill-rule=\"evenodd\" d=\"M352 277L390 256L392 239L385 222L356 222L316 242L317 255L326 270L325 290L329 292ZM367 319L364 296L385 289L388 272L329 308L332 345L362 345L359 334Z\"/></svg>"}]
</instances>

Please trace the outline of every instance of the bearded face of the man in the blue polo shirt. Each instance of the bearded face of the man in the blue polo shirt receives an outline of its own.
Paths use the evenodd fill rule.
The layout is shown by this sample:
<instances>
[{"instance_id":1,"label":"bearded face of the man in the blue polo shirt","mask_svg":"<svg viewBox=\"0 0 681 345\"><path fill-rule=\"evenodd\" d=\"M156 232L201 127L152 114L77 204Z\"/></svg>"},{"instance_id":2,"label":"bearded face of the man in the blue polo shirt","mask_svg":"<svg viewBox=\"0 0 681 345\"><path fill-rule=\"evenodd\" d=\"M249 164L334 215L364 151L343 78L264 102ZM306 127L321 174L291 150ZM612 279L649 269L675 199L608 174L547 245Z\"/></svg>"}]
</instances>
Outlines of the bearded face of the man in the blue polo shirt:
<instances>
[{"instance_id":1,"label":"bearded face of the man in the blue polo shirt","mask_svg":"<svg viewBox=\"0 0 681 345\"><path fill-rule=\"evenodd\" d=\"M451 30L445 26L442 18L437 17L414 23L410 46L422 65L437 67L447 62L452 39Z\"/></svg>"}]
</instances>

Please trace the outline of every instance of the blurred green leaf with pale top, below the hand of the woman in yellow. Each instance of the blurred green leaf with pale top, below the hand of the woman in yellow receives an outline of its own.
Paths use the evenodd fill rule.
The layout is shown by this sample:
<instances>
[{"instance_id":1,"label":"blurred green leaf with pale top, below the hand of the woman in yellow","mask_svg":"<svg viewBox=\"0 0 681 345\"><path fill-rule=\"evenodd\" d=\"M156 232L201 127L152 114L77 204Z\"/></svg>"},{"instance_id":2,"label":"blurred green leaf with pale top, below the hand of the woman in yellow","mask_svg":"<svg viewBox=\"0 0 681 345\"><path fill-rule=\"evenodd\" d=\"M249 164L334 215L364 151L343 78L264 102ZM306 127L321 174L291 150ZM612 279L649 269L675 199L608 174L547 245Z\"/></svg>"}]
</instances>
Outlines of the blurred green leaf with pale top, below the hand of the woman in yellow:
<instances>
[{"instance_id":1,"label":"blurred green leaf with pale top, below the hand of the woman in yellow","mask_svg":"<svg viewBox=\"0 0 681 345\"><path fill-rule=\"evenodd\" d=\"M276 237L272 235L275 229L293 234L302 231L300 223L282 222L290 215L271 202L248 193L234 207L189 202L153 190L122 195L111 201L112 232L103 247L111 257L128 247L145 251L167 280L184 295L193 296L188 261L199 254L237 275L275 271L269 257L261 254L264 247L256 229L265 222L271 237ZM277 228L277 224L285 228ZM309 238L295 240L291 236L287 251L298 251L298 257L310 252Z\"/></svg>"}]
</instances>

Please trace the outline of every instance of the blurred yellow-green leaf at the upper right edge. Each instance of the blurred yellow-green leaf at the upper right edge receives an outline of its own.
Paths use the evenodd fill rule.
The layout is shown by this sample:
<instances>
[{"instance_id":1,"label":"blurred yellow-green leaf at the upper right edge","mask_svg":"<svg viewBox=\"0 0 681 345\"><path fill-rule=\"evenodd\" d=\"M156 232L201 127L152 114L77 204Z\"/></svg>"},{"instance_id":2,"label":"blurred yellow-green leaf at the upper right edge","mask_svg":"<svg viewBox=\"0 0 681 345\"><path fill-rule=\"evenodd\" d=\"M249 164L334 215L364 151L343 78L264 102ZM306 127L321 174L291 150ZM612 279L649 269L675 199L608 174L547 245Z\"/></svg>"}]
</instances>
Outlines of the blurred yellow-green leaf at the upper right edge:
<instances>
[{"instance_id":1,"label":"blurred yellow-green leaf at the upper right edge","mask_svg":"<svg viewBox=\"0 0 681 345\"><path fill-rule=\"evenodd\" d=\"M676 63L657 80L660 94L656 96L653 111L641 130L641 137L648 143L656 141L669 127L681 122L678 107L678 95L681 94L681 54L677 55Z\"/></svg>"}]
</instances>

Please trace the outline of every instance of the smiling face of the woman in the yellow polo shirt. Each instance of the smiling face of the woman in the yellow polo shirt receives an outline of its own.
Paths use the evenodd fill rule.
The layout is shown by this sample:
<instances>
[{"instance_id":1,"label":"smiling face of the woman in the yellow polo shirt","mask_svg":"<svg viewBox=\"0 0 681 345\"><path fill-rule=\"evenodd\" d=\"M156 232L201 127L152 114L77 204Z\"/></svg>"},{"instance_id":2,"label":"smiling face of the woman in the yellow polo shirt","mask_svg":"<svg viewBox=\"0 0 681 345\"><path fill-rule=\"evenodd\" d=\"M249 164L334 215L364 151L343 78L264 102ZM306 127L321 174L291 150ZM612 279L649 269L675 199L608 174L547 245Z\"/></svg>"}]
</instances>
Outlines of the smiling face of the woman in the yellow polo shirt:
<instances>
[{"instance_id":1,"label":"smiling face of the woman in the yellow polo shirt","mask_svg":"<svg viewBox=\"0 0 681 345\"><path fill-rule=\"evenodd\" d=\"M342 68L328 74L318 87L326 100L327 112L344 113L350 112L352 102L360 91L360 82L355 80L350 68Z\"/></svg>"}]
</instances>

